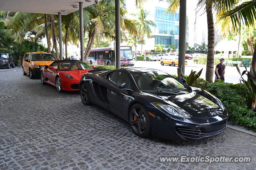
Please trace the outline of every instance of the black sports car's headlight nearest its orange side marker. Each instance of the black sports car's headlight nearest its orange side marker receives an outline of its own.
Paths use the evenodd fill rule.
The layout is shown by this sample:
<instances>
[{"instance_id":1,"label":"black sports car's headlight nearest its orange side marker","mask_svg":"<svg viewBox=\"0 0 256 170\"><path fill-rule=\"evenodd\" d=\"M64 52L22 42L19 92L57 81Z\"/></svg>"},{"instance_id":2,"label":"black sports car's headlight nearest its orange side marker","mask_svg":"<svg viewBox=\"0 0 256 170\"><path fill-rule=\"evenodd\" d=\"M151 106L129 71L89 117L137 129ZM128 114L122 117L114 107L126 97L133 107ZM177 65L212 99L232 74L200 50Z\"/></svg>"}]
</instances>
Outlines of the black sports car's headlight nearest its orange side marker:
<instances>
[{"instance_id":1,"label":"black sports car's headlight nearest its orange side marker","mask_svg":"<svg viewBox=\"0 0 256 170\"><path fill-rule=\"evenodd\" d=\"M156 104L157 106L164 109L166 112L170 113L171 115L178 116L178 117L184 117L184 118L191 118L191 115L189 113L186 113L184 110L170 106L168 104Z\"/></svg>"}]
</instances>

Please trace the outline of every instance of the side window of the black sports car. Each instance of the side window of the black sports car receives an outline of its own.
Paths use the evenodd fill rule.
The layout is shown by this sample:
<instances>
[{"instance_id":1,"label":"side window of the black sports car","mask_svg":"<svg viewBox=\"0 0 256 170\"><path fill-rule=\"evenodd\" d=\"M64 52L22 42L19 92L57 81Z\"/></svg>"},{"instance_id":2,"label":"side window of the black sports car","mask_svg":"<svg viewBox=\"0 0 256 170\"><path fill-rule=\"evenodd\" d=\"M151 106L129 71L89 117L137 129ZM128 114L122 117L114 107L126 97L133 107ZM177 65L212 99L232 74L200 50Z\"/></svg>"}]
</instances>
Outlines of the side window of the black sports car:
<instances>
[{"instance_id":1,"label":"side window of the black sports car","mask_svg":"<svg viewBox=\"0 0 256 170\"><path fill-rule=\"evenodd\" d=\"M118 71L111 72L110 74L108 74L107 78L111 82L116 84L116 86L119 86L119 84L121 84L121 83L126 83L125 88L132 90L132 85L131 85L130 79L129 79L128 75L124 72L118 72Z\"/></svg>"}]
</instances>

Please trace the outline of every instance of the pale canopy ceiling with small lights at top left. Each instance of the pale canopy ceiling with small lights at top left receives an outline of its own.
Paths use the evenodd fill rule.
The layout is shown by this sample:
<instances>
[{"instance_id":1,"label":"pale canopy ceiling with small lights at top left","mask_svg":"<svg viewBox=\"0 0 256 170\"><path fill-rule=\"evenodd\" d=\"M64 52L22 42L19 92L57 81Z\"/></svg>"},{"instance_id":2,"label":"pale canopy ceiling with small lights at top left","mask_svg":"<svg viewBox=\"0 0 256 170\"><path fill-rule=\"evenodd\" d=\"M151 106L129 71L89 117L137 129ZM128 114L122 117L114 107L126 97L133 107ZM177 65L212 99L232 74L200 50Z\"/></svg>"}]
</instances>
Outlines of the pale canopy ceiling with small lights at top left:
<instances>
[{"instance_id":1,"label":"pale canopy ceiling with small lights at top left","mask_svg":"<svg viewBox=\"0 0 256 170\"><path fill-rule=\"evenodd\" d=\"M95 3L94 0L0 0L0 11L58 14L66 10L62 15L68 15L79 10L79 2L84 2L83 8Z\"/></svg>"}]
</instances>

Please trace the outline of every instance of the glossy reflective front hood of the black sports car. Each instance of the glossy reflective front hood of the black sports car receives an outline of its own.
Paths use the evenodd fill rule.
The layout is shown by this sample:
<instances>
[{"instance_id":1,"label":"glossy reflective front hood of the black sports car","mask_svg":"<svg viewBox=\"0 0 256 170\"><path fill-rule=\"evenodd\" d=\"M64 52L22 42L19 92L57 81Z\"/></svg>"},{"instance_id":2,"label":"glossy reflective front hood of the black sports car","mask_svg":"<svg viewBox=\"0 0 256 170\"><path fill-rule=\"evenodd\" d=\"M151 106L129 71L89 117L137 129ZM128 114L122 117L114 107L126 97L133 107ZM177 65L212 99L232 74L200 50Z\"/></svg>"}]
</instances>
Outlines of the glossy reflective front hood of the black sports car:
<instances>
[{"instance_id":1,"label":"glossy reflective front hood of the black sports car","mask_svg":"<svg viewBox=\"0 0 256 170\"><path fill-rule=\"evenodd\" d=\"M222 114L217 101L204 92L193 91L178 96L160 96L190 113L192 117L205 118Z\"/></svg>"}]
</instances>

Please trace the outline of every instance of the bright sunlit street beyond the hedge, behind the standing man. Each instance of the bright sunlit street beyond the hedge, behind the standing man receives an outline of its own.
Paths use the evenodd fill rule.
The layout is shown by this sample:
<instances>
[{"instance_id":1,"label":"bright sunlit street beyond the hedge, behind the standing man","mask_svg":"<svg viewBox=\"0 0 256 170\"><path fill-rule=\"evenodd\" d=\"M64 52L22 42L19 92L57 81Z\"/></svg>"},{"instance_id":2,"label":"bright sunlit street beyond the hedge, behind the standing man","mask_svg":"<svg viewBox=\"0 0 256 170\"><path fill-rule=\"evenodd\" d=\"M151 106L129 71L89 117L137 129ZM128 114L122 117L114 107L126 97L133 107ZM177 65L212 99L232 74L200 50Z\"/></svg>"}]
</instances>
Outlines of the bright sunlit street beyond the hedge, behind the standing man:
<instances>
[{"instance_id":1,"label":"bright sunlit street beyond the hedge, behind the standing man","mask_svg":"<svg viewBox=\"0 0 256 170\"><path fill-rule=\"evenodd\" d=\"M186 60L186 61L188 61L188 65L185 66L185 75L189 75L191 70L198 72L203 68L200 78L204 78L204 80L205 80L206 65L194 64L192 60ZM178 75L177 74L178 66L173 67L173 66L169 66L166 64L164 66L162 66L160 64L160 61L134 61L134 66L135 67L155 68L155 69L167 72L168 74ZM240 68L241 73L243 70L245 70L244 67L239 67L239 68ZM215 66L214 66L214 70L215 70ZM243 77L246 78L246 76L243 76ZM214 78L215 78L215 74L214 74ZM213 78L213 80L214 80L214 78ZM239 83L239 79L240 79L240 75L239 75L236 67L235 66L226 66L225 82L236 84L236 83Z\"/></svg>"}]
</instances>

